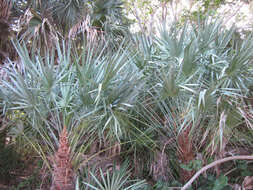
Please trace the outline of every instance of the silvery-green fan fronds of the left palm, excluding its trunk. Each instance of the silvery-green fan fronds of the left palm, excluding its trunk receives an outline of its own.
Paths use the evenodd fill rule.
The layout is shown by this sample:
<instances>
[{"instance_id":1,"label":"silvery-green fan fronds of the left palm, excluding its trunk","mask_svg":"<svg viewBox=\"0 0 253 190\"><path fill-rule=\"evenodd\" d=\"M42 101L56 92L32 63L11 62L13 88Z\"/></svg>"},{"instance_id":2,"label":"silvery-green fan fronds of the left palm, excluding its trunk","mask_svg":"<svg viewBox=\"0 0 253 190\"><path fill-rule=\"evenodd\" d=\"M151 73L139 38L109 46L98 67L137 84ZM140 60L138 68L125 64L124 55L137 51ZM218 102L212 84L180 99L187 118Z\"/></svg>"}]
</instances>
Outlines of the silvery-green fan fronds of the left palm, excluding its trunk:
<instances>
[{"instance_id":1,"label":"silvery-green fan fronds of the left palm, excluding its trunk","mask_svg":"<svg viewBox=\"0 0 253 190\"><path fill-rule=\"evenodd\" d=\"M136 126L129 110L136 104L142 75L125 43L114 54L103 43L88 43L80 55L73 55L71 45L64 49L63 42L42 57L29 56L15 42L23 69L6 68L10 80L1 84L6 110L26 116L23 137L49 170L63 126L68 128L74 172L91 158L103 162L118 156L121 143L132 141Z\"/></svg>"}]
</instances>

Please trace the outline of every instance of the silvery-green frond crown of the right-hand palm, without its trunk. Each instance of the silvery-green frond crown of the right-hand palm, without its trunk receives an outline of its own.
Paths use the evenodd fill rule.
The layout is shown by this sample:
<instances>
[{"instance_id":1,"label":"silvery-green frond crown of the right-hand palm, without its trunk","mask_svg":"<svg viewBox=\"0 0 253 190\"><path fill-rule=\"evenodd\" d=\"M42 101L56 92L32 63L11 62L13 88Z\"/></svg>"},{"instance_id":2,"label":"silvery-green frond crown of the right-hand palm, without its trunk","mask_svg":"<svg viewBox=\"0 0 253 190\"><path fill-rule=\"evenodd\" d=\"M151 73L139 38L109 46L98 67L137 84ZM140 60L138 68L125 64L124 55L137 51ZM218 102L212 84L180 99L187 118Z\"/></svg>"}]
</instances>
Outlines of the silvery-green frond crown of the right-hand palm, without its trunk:
<instances>
[{"instance_id":1,"label":"silvery-green frond crown of the right-hand palm, without its trunk","mask_svg":"<svg viewBox=\"0 0 253 190\"><path fill-rule=\"evenodd\" d=\"M253 79L249 64L253 54L248 51L252 37L240 44L233 38L233 28L226 30L219 20L212 19L179 29L161 27L160 37L155 37L152 45L142 43L147 50L156 48L142 66L151 79L148 91L158 105L147 117L165 117L169 126L179 124L179 134L186 123L193 122L195 142L205 142L204 150L211 148L213 153L243 122L240 110L245 107L239 99L248 94L247 84ZM232 41L235 44L231 47ZM144 53L142 56L147 57ZM161 97L165 99L159 101ZM153 115L157 112L162 115ZM202 130L206 131L204 136Z\"/></svg>"}]
</instances>

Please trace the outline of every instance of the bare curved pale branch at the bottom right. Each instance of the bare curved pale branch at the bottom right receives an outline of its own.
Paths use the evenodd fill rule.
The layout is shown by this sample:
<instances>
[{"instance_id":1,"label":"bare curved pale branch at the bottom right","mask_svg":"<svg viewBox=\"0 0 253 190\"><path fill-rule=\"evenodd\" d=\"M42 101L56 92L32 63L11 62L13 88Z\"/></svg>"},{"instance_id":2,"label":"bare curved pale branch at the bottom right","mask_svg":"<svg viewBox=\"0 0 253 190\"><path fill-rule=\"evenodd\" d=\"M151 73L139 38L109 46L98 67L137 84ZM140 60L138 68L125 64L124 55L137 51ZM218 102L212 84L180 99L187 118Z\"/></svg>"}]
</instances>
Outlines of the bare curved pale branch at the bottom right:
<instances>
[{"instance_id":1,"label":"bare curved pale branch at the bottom right","mask_svg":"<svg viewBox=\"0 0 253 190\"><path fill-rule=\"evenodd\" d=\"M227 162L230 160L253 160L253 156L231 156L227 158L222 158L220 160L216 160L212 162L211 164L206 165L205 167L201 168L195 175L181 188L181 190L186 190L193 182L195 179L197 179L200 174L208 170L209 168L212 168L218 164L221 164L223 162Z\"/></svg>"}]
</instances>

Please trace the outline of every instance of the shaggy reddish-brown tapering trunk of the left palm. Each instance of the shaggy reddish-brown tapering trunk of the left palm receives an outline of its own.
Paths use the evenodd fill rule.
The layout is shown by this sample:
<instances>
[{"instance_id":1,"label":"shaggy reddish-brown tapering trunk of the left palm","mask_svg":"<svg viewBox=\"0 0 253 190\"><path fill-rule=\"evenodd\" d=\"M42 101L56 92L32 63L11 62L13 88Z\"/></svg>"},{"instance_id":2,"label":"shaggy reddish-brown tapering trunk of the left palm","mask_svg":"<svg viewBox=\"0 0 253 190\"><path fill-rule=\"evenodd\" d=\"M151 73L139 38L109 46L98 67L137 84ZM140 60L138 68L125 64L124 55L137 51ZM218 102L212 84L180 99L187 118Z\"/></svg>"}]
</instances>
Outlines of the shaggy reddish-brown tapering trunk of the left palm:
<instances>
[{"instance_id":1,"label":"shaggy reddish-brown tapering trunk of the left palm","mask_svg":"<svg viewBox=\"0 0 253 190\"><path fill-rule=\"evenodd\" d=\"M51 190L74 190L74 172L70 159L68 132L64 126L59 139L59 148L54 155L53 184Z\"/></svg>"}]
</instances>

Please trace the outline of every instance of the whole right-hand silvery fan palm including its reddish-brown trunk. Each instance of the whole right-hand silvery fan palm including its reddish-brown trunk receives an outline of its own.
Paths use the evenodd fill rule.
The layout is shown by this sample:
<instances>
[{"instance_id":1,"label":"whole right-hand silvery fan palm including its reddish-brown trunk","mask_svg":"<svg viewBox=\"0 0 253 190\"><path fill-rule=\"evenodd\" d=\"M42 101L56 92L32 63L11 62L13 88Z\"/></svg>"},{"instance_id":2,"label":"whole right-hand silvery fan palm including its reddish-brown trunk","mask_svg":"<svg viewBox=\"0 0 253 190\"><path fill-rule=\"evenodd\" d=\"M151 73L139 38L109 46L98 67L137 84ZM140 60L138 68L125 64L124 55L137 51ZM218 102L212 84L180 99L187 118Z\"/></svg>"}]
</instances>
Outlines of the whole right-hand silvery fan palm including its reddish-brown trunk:
<instances>
[{"instance_id":1,"label":"whole right-hand silvery fan palm including its reddish-brown trunk","mask_svg":"<svg viewBox=\"0 0 253 190\"><path fill-rule=\"evenodd\" d=\"M171 161L182 165L174 168L182 182L193 175L187 165L197 155L203 162L224 157L225 147L242 143L242 136L252 144L252 109L243 101L253 79L252 36L241 43L234 31L207 19L179 29L163 26L160 37L138 43L138 57L145 62L136 62L150 78L142 117L161 139L167 138L159 151L165 154L168 147ZM240 132L242 125L248 136Z\"/></svg>"}]
</instances>

